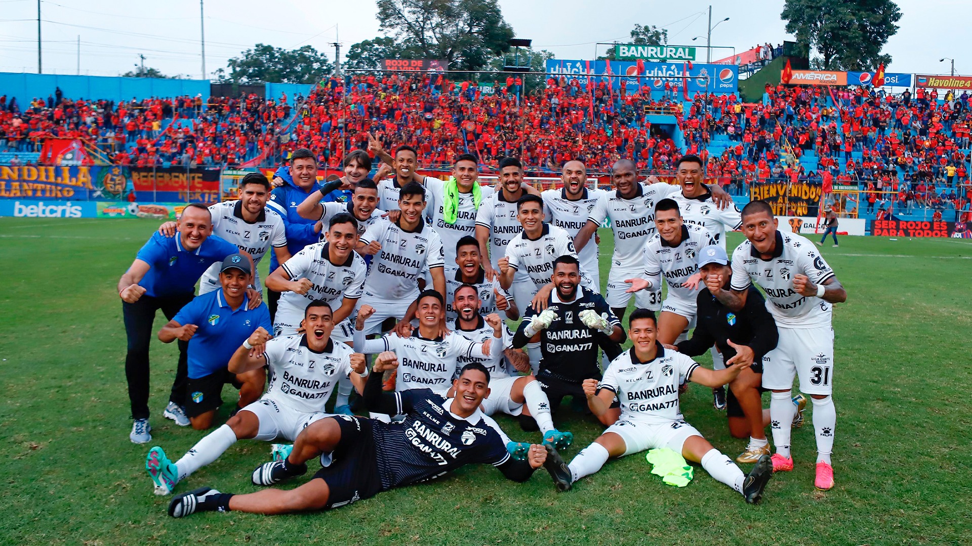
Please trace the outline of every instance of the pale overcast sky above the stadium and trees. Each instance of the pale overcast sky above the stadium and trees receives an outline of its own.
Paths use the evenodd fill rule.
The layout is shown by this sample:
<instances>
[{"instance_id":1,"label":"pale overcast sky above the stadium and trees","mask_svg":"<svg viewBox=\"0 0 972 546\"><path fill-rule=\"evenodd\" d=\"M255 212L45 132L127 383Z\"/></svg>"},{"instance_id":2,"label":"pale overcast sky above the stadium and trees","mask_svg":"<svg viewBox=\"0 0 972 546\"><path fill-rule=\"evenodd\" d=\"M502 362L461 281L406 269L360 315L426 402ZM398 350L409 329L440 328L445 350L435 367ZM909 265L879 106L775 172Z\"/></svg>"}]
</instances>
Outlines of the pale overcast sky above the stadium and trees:
<instances>
[{"instance_id":1,"label":"pale overcast sky above the stadium and trees","mask_svg":"<svg viewBox=\"0 0 972 546\"><path fill-rule=\"evenodd\" d=\"M674 45L705 46L709 2L592 2L590 0L500 0L503 17L516 36L530 38L558 58L594 58L597 42L623 41L635 23L669 29ZM781 1L713 2L712 46L744 51L755 43L792 39L783 30ZM972 74L972 20L969 0L898 0L900 29L885 46L893 57L888 72L943 74L957 57L956 74ZM81 74L117 76L145 65L164 74L201 75L199 3L194 0L42 1L44 72L75 74L78 36ZM226 67L226 59L258 42L293 49L310 44L333 59L335 40L342 55L354 43L378 35L373 0L205 0L206 71ZM0 0L0 71L37 71L36 0ZM949 21L962 21L950 25ZM692 41L693 37L702 36ZM604 46L597 51L603 53ZM732 54L713 50L712 58ZM704 58L705 52L699 52Z\"/></svg>"}]
</instances>

